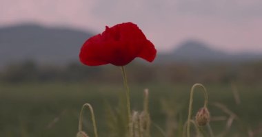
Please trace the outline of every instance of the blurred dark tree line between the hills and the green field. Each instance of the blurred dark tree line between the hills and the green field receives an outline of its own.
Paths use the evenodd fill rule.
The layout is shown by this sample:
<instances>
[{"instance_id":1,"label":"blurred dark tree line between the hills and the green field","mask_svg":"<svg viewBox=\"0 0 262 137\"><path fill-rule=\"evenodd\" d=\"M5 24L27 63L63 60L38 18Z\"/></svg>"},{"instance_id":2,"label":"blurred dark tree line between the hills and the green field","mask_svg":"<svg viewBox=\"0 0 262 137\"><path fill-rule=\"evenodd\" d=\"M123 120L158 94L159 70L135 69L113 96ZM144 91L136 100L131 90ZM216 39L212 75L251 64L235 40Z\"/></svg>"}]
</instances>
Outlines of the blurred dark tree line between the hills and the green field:
<instances>
[{"instance_id":1,"label":"blurred dark tree line between the hills and the green field","mask_svg":"<svg viewBox=\"0 0 262 137\"><path fill-rule=\"evenodd\" d=\"M125 66L128 79L134 83L262 83L262 61L245 64L143 64ZM38 64L32 60L9 64L0 71L1 82L121 82L120 67L84 66L79 62L67 65Z\"/></svg>"}]
</instances>

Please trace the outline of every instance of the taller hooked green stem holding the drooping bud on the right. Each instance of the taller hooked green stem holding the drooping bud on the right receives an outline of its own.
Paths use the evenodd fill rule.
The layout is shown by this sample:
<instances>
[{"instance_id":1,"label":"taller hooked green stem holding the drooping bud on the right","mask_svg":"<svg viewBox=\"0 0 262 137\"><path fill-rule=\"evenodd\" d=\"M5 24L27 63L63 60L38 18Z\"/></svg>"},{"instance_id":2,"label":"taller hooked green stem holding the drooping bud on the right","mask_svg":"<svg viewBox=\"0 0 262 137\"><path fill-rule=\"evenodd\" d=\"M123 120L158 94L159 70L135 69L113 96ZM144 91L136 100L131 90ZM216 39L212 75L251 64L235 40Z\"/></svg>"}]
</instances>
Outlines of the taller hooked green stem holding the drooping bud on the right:
<instances>
[{"instance_id":1,"label":"taller hooked green stem holding the drooping bud on the right","mask_svg":"<svg viewBox=\"0 0 262 137\"><path fill-rule=\"evenodd\" d=\"M196 88L196 86L200 86L201 88L203 88L202 91L203 91L203 94L204 94L204 97L205 97L204 107L207 107L207 105L208 105L208 92L205 89L205 86L203 86L202 84L194 84L191 88L191 91L190 91L190 102L189 102L189 108L188 108L188 121L190 121L191 115L192 115L194 88ZM188 134L188 137L190 137L190 123L189 122L188 122L188 126L187 126L187 134Z\"/></svg>"}]
</instances>

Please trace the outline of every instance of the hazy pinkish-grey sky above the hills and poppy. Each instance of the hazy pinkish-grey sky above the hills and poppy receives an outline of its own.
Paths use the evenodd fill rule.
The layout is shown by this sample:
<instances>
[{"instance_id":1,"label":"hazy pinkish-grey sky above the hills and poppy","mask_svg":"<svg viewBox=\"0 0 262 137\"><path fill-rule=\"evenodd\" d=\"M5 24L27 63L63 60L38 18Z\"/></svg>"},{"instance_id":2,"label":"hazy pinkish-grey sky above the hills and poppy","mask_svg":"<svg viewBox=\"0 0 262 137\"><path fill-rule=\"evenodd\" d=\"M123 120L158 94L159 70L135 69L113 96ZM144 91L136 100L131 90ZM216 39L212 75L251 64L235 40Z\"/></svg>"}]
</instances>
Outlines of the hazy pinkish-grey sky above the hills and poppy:
<instances>
[{"instance_id":1,"label":"hazy pinkish-grey sky above the hills and poppy","mask_svg":"<svg viewBox=\"0 0 262 137\"><path fill-rule=\"evenodd\" d=\"M194 39L229 53L262 53L261 0L0 1L0 27L39 23L99 34L129 21L163 52Z\"/></svg>"}]
</instances>

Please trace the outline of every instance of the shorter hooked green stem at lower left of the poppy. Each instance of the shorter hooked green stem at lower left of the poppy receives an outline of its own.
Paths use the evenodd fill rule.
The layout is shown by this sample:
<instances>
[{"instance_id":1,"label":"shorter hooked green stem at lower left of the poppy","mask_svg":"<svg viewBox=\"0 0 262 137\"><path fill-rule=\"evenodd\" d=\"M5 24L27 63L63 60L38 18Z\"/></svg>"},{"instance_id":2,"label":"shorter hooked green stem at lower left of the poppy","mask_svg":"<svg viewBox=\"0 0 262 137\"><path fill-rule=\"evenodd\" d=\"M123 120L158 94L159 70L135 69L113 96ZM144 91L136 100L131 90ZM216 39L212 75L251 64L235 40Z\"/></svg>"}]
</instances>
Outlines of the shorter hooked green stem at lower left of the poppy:
<instances>
[{"instance_id":1,"label":"shorter hooked green stem at lower left of the poppy","mask_svg":"<svg viewBox=\"0 0 262 137\"><path fill-rule=\"evenodd\" d=\"M96 120L94 118L94 110L92 108L92 105L90 105L89 103L85 103L82 106L81 112L80 112L80 116L79 116L79 132L82 131L82 122L83 122L83 108L88 107L90 112L91 112L91 119L92 119L92 123L93 123L93 127L94 127L94 136L98 137L97 134L97 124L96 124Z\"/></svg>"}]
</instances>

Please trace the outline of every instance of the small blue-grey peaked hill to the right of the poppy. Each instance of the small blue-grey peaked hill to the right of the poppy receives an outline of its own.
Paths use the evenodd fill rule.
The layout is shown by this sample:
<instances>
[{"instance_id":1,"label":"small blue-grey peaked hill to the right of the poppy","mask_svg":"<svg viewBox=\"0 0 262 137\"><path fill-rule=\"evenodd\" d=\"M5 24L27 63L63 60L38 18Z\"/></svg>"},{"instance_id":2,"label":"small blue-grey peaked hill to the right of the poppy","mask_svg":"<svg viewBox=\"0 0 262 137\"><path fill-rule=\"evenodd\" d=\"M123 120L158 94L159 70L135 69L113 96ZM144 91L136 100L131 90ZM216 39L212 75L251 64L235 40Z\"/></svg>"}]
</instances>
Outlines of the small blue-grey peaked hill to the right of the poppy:
<instances>
[{"instance_id":1,"label":"small blue-grey peaked hill to the right of the poppy","mask_svg":"<svg viewBox=\"0 0 262 137\"><path fill-rule=\"evenodd\" d=\"M262 53L237 53L230 54L217 49L212 49L199 40L188 40L172 53L158 55L157 62L185 62L185 63L212 63L212 62L248 62L262 60Z\"/></svg>"}]
</instances>

